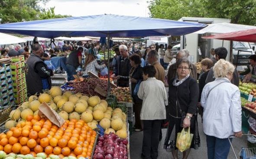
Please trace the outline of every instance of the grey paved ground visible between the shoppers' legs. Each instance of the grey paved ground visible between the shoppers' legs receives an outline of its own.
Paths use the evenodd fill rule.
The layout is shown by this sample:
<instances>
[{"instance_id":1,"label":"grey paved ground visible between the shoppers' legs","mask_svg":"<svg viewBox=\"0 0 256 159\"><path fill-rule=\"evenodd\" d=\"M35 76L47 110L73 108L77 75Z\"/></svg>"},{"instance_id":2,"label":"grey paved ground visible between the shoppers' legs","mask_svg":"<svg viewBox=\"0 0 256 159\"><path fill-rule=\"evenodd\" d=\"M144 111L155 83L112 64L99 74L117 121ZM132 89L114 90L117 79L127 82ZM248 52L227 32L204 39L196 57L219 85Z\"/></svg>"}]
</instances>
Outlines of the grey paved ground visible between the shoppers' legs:
<instances>
[{"instance_id":1,"label":"grey paved ground visible between the shoppers' legs","mask_svg":"<svg viewBox=\"0 0 256 159\"><path fill-rule=\"evenodd\" d=\"M198 115L198 128L199 128L200 137L201 137L201 147L198 150L192 149L188 159L207 159L206 137L205 137L205 134L203 133L202 123L199 121L201 121L201 118ZM172 154L169 152L166 152L163 149L163 143L164 143L164 139L165 139L166 129L162 129L162 132L163 132L163 139L159 143L158 159L172 159ZM142 148L142 140L143 140L143 131L134 132L130 136L130 157L131 157L131 159L141 159L140 155L141 155L141 148ZM238 154L241 147L247 147L246 137L233 139L233 146L234 146L236 153ZM182 154L179 152L179 159L181 159L181 158L182 158ZM233 155L233 152L231 149L230 149L228 159L235 159L235 156Z\"/></svg>"}]
</instances>

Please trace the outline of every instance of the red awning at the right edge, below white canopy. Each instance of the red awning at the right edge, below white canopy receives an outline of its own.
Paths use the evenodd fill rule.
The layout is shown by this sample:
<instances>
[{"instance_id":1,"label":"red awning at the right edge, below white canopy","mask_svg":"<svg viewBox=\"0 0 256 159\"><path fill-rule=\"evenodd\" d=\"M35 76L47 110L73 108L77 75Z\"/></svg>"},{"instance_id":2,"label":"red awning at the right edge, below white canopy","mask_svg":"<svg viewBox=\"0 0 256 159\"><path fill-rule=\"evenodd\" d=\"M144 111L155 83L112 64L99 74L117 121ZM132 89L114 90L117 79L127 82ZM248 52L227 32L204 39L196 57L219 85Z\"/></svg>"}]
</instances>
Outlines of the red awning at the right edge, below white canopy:
<instances>
[{"instance_id":1,"label":"red awning at the right edge, below white canopy","mask_svg":"<svg viewBox=\"0 0 256 159\"><path fill-rule=\"evenodd\" d=\"M220 39L220 40L227 40L227 41L256 42L256 29L234 31L230 33L211 35L211 36L202 37L202 38Z\"/></svg>"}]
</instances>

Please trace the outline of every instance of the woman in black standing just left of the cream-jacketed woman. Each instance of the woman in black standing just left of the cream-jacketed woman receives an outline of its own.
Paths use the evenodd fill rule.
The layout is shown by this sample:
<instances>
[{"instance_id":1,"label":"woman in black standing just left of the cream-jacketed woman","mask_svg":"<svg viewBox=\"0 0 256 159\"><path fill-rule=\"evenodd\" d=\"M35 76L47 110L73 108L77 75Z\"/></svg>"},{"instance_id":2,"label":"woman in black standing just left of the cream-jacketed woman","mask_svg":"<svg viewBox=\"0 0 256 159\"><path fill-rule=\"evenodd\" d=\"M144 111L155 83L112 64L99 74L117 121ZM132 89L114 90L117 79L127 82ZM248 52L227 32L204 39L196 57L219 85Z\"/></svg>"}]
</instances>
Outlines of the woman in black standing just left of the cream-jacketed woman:
<instances>
[{"instance_id":1,"label":"woman in black standing just left of the cream-jacketed woman","mask_svg":"<svg viewBox=\"0 0 256 159\"><path fill-rule=\"evenodd\" d=\"M130 56L130 64L132 66L130 73L129 73L129 83L130 83L130 90L133 97L133 111L135 113L135 131L141 131L141 121L140 121L140 111L142 108L142 100L139 99L137 95L134 94L134 89L136 87L136 84L139 81L143 81L143 68L141 67L141 59L139 55L134 54Z\"/></svg>"}]
</instances>

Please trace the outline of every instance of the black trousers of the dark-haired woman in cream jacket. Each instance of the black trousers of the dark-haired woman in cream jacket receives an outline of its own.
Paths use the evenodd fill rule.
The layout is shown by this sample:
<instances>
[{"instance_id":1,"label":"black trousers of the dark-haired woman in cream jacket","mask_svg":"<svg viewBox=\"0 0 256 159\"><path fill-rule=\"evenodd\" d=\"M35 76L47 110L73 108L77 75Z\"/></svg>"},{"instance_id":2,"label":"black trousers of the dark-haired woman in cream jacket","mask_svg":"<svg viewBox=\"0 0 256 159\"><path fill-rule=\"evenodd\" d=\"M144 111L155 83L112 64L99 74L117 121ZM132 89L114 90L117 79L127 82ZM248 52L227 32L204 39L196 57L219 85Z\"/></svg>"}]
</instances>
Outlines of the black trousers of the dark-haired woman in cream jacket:
<instances>
[{"instance_id":1,"label":"black trousers of the dark-haired woman in cream jacket","mask_svg":"<svg viewBox=\"0 0 256 159\"><path fill-rule=\"evenodd\" d=\"M157 159L159 133L162 120L143 120L143 146L142 157L144 159Z\"/></svg>"}]
</instances>

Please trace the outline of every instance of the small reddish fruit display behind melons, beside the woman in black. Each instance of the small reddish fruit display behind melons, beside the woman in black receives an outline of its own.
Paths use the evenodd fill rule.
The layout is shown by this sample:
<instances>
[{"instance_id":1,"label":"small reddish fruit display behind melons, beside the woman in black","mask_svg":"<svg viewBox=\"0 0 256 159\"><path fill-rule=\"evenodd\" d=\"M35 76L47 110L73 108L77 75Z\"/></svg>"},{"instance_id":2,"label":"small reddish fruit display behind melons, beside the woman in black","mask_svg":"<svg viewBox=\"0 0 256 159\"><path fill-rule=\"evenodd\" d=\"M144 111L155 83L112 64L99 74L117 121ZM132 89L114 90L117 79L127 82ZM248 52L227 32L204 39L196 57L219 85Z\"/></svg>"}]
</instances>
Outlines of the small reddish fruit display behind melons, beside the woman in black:
<instances>
[{"instance_id":1,"label":"small reddish fruit display behind melons, beside the woman in black","mask_svg":"<svg viewBox=\"0 0 256 159\"><path fill-rule=\"evenodd\" d=\"M128 102L128 103L133 102L133 98L130 94L129 87L112 88L111 89L111 94L115 95L119 102Z\"/></svg>"}]
</instances>

